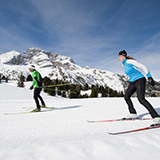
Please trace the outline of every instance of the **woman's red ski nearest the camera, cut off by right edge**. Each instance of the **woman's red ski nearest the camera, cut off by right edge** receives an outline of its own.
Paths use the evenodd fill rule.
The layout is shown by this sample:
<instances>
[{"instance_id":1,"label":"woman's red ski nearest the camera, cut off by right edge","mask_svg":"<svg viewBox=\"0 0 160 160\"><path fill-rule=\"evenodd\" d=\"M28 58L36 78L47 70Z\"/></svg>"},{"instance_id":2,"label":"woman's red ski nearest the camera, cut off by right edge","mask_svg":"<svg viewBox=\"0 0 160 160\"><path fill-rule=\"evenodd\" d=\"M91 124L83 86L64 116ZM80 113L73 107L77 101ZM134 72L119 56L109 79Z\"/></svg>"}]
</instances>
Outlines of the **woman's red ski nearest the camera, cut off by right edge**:
<instances>
[{"instance_id":1,"label":"woman's red ski nearest the camera, cut off by right edge","mask_svg":"<svg viewBox=\"0 0 160 160\"><path fill-rule=\"evenodd\" d=\"M138 129L133 129L133 130L128 130L128 131L122 131L122 132L109 132L108 134L110 134L110 135L126 134L126 133L145 131L145 130L154 129L154 128L160 128L160 125L151 125L149 127L138 128Z\"/></svg>"}]
</instances>

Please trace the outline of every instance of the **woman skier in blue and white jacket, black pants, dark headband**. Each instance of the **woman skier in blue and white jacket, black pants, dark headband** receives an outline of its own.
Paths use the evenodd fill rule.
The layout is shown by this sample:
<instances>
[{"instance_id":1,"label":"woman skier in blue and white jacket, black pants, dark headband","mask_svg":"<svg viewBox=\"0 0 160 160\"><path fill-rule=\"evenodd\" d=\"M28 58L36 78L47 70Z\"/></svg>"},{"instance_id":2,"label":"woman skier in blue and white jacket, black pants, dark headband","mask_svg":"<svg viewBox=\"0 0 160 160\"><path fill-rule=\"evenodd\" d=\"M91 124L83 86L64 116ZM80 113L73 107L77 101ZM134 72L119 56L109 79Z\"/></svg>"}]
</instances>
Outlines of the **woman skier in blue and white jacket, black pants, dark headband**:
<instances>
[{"instance_id":1,"label":"woman skier in blue and white jacket, black pants, dark headband","mask_svg":"<svg viewBox=\"0 0 160 160\"><path fill-rule=\"evenodd\" d=\"M136 91L139 102L149 111L153 118L153 124L160 124L160 115L155 111L152 105L145 99L146 78L139 69L142 69L148 78L150 85L154 86L154 80L146 66L137 62L134 58L127 56L125 50L118 54L119 60L123 64L124 72L129 77L129 86L125 93L124 99L128 105L130 114L127 119L137 118L137 112L131 101L131 96Z\"/></svg>"}]
</instances>

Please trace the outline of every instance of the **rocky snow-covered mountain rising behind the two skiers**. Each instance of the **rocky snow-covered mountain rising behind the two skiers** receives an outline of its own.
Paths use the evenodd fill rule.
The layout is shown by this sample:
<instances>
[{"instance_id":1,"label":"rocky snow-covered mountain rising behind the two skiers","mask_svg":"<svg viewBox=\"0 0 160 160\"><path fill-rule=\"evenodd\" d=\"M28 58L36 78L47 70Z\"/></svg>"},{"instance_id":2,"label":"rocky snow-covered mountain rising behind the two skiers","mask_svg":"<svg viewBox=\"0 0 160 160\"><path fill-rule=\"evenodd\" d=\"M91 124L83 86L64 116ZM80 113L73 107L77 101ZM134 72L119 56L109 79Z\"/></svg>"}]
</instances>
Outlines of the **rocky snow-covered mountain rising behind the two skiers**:
<instances>
[{"instance_id":1,"label":"rocky snow-covered mountain rising behind the two skiers","mask_svg":"<svg viewBox=\"0 0 160 160\"><path fill-rule=\"evenodd\" d=\"M124 91L128 85L127 77L106 70L91 69L78 66L73 59L44 51L40 48L29 48L22 55L17 51L10 51L0 55L0 73L10 79L17 79L23 72L27 77L29 65L35 65L42 77L62 79L76 84L108 86L118 92Z\"/></svg>"}]
</instances>

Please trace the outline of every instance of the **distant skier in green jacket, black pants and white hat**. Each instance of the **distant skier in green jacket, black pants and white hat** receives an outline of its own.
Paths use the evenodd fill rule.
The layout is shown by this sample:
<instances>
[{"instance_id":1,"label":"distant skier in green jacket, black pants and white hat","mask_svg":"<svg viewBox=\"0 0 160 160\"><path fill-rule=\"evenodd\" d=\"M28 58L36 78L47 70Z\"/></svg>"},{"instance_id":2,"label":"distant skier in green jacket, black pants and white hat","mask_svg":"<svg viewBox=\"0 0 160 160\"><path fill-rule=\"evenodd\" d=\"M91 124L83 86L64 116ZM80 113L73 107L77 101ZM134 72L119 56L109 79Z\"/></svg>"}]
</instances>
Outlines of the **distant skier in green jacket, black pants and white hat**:
<instances>
[{"instance_id":1,"label":"distant skier in green jacket, black pants and white hat","mask_svg":"<svg viewBox=\"0 0 160 160\"><path fill-rule=\"evenodd\" d=\"M36 106L37 108L35 110L33 110L33 112L39 112L41 111L41 107L45 107L45 103L43 98L40 96L40 93L42 91L42 77L41 74L36 71L35 66L31 65L29 67L29 71L32 73L32 79L33 79L33 83L32 86L30 87L30 90L32 90L34 88L34 100L36 102ZM39 104L39 100L41 101L41 106Z\"/></svg>"}]
</instances>

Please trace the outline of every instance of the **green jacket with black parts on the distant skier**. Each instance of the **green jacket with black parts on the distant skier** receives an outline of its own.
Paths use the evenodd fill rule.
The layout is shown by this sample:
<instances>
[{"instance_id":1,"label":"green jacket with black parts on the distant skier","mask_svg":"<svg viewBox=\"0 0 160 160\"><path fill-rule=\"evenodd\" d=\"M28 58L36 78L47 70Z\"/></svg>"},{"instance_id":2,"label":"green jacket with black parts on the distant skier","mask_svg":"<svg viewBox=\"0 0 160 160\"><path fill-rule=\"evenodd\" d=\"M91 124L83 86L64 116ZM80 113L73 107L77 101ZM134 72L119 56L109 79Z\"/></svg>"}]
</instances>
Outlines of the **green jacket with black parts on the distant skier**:
<instances>
[{"instance_id":1,"label":"green jacket with black parts on the distant skier","mask_svg":"<svg viewBox=\"0 0 160 160\"><path fill-rule=\"evenodd\" d=\"M33 79L32 86L42 87L42 77L38 71L36 70L32 71L32 79Z\"/></svg>"}]
</instances>

